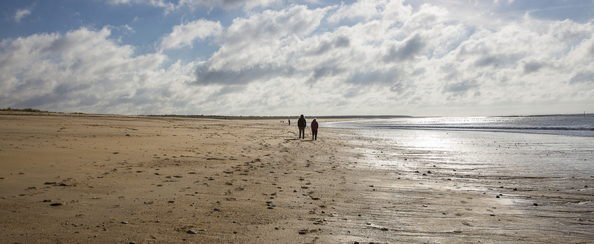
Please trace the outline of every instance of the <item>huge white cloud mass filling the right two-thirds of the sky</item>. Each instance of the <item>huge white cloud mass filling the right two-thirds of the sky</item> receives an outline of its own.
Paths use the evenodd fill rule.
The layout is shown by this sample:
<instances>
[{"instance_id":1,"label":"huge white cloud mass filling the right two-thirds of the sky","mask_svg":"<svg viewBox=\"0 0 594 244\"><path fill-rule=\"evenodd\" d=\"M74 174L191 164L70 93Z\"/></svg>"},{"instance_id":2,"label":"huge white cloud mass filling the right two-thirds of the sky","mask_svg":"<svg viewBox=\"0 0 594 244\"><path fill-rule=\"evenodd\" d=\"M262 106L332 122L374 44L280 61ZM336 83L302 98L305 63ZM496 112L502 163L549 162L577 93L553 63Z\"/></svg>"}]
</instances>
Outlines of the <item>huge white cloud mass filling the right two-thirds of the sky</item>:
<instances>
[{"instance_id":1,"label":"huge white cloud mass filling the right two-thirds of the sky","mask_svg":"<svg viewBox=\"0 0 594 244\"><path fill-rule=\"evenodd\" d=\"M367 6L373 4L376 8ZM571 96L572 84L586 84L583 80L591 77L586 68L574 67L591 63L592 56L570 56L574 49L586 51L581 54L594 49L584 39L590 38L592 23L527 18L487 29L456 22L445 8L424 5L407 12L410 8L400 4L403 11L395 20L382 11L384 1L359 1L327 15L329 22L360 17L353 26L301 32L276 25L312 13L296 8L235 20L219 51L198 64L194 84L242 85L247 90L259 86L266 94L296 103L324 96L332 98L324 102L336 113L385 114L380 111L398 107L403 114L425 114L452 105L554 104ZM358 9L363 11L357 14ZM317 22L305 26L321 27ZM291 94L298 84L305 90L302 98ZM229 92L238 98L247 91ZM388 112L393 113L400 114Z\"/></svg>"}]
</instances>

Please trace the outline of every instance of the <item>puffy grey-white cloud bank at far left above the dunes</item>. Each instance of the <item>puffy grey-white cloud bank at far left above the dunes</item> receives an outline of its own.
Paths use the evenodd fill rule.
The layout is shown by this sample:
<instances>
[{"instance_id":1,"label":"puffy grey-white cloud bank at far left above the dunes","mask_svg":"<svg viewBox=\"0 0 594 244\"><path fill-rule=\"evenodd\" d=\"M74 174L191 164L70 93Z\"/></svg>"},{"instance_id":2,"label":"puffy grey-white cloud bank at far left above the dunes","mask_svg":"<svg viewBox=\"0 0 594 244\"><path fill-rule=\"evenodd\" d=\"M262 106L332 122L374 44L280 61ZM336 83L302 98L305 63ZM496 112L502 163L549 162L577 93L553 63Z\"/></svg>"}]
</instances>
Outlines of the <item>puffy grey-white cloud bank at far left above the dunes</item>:
<instances>
[{"instance_id":1,"label":"puffy grey-white cloud bank at far left above the dunes","mask_svg":"<svg viewBox=\"0 0 594 244\"><path fill-rule=\"evenodd\" d=\"M180 63L162 70L161 54L134 56L134 47L110 40L110 29L82 28L3 40L0 103L13 107L129 113L153 106L175 82L186 82ZM151 92L143 92L151 91ZM136 93L146 96L138 97ZM160 96L159 96L160 94ZM144 102L143 102L144 101ZM153 105L149 105L153 104Z\"/></svg>"}]
</instances>

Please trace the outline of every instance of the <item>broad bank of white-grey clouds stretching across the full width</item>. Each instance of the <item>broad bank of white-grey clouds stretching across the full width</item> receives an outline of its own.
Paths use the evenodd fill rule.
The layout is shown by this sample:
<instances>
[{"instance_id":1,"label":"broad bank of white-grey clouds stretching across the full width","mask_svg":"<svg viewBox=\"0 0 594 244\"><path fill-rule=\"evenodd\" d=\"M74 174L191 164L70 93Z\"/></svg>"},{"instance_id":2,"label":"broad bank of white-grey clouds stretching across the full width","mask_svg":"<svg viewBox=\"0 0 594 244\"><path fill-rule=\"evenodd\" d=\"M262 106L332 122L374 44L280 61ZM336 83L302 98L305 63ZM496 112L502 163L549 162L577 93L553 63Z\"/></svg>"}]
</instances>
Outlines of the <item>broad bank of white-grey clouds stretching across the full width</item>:
<instances>
[{"instance_id":1,"label":"broad bank of white-grey clouds stretching across the full width","mask_svg":"<svg viewBox=\"0 0 594 244\"><path fill-rule=\"evenodd\" d=\"M148 3L175 10L275 2ZM113 40L110 28L3 40L0 84L7 89L0 105L129 114L150 107L164 114L444 115L452 105L481 114L481 106L594 102L594 22L526 15L483 25L448 7L361 0L252 10L229 24L174 26L159 50L142 55ZM172 57L159 51L198 42L217 50L203 61L174 59L163 67Z\"/></svg>"}]
</instances>

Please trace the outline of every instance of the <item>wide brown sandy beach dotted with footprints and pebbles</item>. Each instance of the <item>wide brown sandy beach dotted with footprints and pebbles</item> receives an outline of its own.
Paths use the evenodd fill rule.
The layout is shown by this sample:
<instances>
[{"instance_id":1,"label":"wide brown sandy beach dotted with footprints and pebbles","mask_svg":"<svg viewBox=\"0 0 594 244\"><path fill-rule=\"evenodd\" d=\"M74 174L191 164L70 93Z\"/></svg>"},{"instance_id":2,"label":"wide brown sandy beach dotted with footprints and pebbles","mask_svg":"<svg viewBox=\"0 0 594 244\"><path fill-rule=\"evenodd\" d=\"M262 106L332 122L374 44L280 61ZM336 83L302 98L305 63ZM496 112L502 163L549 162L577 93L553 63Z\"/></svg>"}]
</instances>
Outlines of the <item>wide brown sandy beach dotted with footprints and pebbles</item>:
<instances>
[{"instance_id":1,"label":"wide brown sandy beach dotted with footprints and pebbles","mask_svg":"<svg viewBox=\"0 0 594 244\"><path fill-rule=\"evenodd\" d=\"M543 185L276 120L3 112L0 127L0 243L594 240L594 176Z\"/></svg>"}]
</instances>

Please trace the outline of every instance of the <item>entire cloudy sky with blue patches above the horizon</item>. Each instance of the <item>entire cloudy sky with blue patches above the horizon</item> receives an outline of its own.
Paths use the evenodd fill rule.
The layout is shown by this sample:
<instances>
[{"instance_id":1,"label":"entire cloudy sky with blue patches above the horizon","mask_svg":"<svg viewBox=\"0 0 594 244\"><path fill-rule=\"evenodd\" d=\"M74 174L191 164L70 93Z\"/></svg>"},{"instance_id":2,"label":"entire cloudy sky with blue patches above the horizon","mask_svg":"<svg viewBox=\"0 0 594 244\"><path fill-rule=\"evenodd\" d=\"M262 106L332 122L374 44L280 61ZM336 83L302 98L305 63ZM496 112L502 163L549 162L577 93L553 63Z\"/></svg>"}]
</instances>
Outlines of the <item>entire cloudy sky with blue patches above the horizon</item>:
<instances>
[{"instance_id":1,"label":"entire cloudy sky with blue patches above the horizon","mask_svg":"<svg viewBox=\"0 0 594 244\"><path fill-rule=\"evenodd\" d=\"M3 0L0 108L594 112L594 0Z\"/></svg>"}]
</instances>

